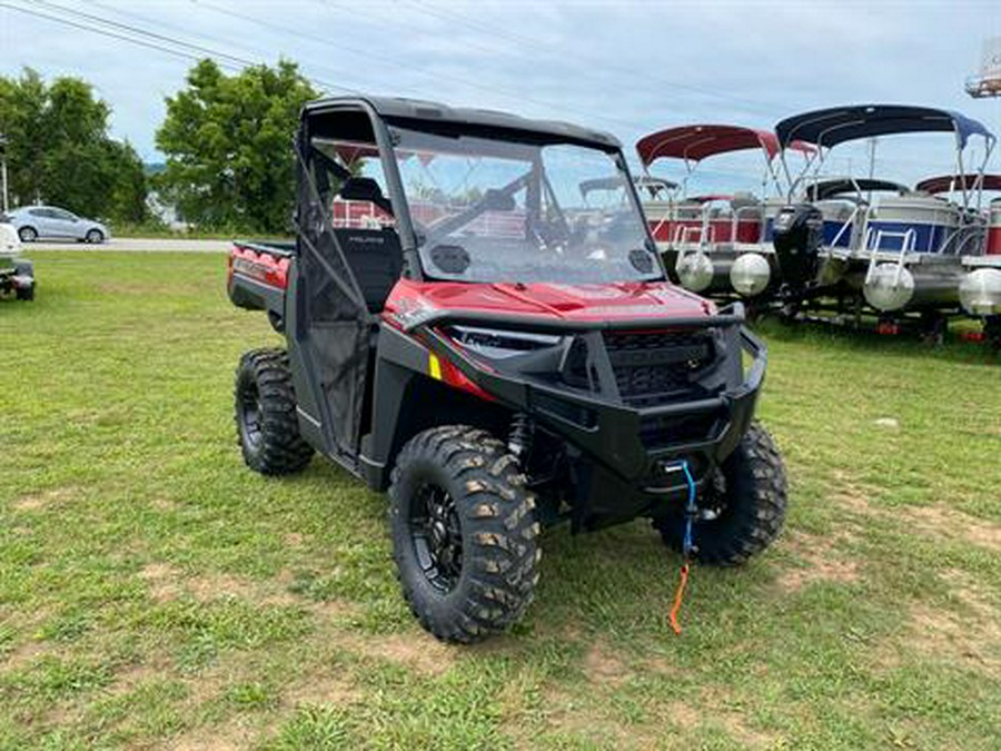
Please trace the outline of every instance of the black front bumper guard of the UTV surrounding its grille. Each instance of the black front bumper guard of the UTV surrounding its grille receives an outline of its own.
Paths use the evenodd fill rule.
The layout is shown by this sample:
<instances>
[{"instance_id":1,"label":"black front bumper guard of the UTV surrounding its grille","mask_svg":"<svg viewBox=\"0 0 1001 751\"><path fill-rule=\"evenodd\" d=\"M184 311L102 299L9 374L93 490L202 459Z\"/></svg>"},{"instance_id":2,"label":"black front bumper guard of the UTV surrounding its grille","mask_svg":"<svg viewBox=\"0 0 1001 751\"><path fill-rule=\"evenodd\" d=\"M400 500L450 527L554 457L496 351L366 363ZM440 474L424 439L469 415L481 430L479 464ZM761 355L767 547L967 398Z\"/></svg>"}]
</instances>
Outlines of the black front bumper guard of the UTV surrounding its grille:
<instances>
[{"instance_id":1,"label":"black front bumper guard of the UTV surrounding its grille","mask_svg":"<svg viewBox=\"0 0 1001 751\"><path fill-rule=\"evenodd\" d=\"M683 501L687 485L673 471L686 461L701 488L713 467L721 464L747 429L764 379L767 350L743 325L736 313L694 320L660 319L661 327L713 329L717 350L706 379L711 396L656 406L634 407L622 399L606 399L554 386L524 374L484 367L439 327L426 327L425 342L439 357L458 367L467 378L512 409L525 412L551 433L566 441L574 454L573 484L581 524L602 526L640 515L667 513ZM480 323L466 316L460 322ZM490 322L495 323L495 322ZM514 322L507 322L512 328ZM654 322L606 323L607 329L653 327ZM552 330L558 325L547 324ZM586 336L586 335L585 335ZM743 355L750 356L746 370Z\"/></svg>"}]
</instances>

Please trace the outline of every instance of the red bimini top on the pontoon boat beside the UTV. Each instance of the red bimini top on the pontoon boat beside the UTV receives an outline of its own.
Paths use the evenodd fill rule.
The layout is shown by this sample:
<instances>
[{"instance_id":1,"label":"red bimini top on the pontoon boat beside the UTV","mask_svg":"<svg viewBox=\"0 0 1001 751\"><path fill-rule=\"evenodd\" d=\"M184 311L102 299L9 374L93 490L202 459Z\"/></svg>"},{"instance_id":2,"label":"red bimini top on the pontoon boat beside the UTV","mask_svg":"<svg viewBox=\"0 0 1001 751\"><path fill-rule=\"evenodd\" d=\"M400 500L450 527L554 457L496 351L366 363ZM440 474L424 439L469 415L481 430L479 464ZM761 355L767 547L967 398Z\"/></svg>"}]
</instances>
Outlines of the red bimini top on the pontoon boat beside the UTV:
<instances>
[{"instance_id":1,"label":"red bimini top on the pontoon boat beside the UTV","mask_svg":"<svg viewBox=\"0 0 1001 751\"><path fill-rule=\"evenodd\" d=\"M793 141L789 148L804 154L816 150L800 141ZM741 126L694 125L658 130L636 142L636 151L645 167L662 157L700 161L717 154L744 149L762 149L771 161L779 154L779 138L771 130Z\"/></svg>"}]
</instances>

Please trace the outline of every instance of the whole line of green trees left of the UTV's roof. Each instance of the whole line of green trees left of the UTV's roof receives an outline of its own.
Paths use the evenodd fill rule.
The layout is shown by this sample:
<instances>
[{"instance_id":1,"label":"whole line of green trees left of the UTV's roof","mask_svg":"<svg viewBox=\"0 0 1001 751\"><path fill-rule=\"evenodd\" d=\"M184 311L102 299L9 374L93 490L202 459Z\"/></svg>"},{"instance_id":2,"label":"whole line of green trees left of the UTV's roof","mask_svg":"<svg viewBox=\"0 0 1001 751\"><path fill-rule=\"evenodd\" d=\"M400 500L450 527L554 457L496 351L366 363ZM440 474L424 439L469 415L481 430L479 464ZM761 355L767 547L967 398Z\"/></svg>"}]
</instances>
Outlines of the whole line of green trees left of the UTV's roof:
<instances>
[{"instance_id":1,"label":"whole line of green trees left of the UTV's roof","mask_svg":"<svg viewBox=\"0 0 1001 751\"><path fill-rule=\"evenodd\" d=\"M291 139L299 109L317 96L294 62L227 75L202 60L166 99L156 131L166 166L147 175L132 146L111 137L111 107L87 81L47 82L30 68L0 76L11 205L142 224L156 191L200 229L284 233L295 200Z\"/></svg>"}]
</instances>

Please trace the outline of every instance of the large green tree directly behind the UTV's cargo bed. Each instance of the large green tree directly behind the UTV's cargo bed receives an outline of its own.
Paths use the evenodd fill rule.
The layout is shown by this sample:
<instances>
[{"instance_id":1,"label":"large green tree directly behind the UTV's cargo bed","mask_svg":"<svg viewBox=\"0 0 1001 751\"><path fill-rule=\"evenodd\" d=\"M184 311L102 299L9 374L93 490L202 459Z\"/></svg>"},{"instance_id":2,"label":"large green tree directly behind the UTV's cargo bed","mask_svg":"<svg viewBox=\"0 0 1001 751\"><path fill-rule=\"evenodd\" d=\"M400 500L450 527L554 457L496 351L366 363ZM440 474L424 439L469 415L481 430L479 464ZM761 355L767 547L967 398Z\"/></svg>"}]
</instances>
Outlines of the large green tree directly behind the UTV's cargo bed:
<instances>
[{"instance_id":1,"label":"large green tree directly behind the UTV's cargo bed","mask_svg":"<svg viewBox=\"0 0 1001 751\"><path fill-rule=\"evenodd\" d=\"M167 166L156 185L197 225L286 230L295 202L291 140L316 91L287 60L235 76L202 60L187 82L167 98L157 131Z\"/></svg>"}]
</instances>

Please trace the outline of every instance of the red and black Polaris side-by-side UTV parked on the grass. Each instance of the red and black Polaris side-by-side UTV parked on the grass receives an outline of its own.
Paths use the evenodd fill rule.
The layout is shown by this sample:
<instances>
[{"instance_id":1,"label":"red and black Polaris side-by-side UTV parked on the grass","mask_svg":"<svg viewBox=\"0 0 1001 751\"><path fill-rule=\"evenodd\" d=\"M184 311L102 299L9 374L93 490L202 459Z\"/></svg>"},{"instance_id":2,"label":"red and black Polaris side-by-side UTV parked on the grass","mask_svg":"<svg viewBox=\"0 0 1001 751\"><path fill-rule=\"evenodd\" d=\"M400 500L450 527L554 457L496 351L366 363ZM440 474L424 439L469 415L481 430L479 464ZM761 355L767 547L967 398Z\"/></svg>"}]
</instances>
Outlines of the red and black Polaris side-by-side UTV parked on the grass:
<instances>
[{"instance_id":1,"label":"red and black Polaris side-by-side UTV parked on the grass","mask_svg":"<svg viewBox=\"0 0 1001 751\"><path fill-rule=\"evenodd\" d=\"M388 490L425 629L470 642L518 619L561 521L648 517L722 565L774 540L765 348L739 304L666 280L612 136L335 98L306 106L295 148L295 244L230 256L230 298L288 343L240 360L244 458L280 475L316 451ZM618 189L585 200L594 180Z\"/></svg>"}]
</instances>

